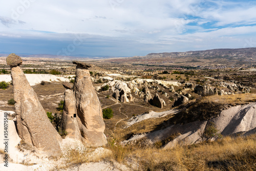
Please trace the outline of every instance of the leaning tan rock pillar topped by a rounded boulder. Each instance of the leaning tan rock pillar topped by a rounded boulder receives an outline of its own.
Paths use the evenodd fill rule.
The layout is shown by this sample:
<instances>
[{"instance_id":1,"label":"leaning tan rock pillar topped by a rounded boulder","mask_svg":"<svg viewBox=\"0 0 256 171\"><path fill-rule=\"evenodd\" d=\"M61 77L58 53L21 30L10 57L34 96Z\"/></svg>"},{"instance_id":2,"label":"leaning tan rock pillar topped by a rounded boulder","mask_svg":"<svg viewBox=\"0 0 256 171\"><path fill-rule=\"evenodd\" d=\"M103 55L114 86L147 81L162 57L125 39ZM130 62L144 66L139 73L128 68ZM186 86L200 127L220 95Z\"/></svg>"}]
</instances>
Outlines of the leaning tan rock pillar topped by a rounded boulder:
<instances>
[{"instance_id":1,"label":"leaning tan rock pillar topped by a rounded boulder","mask_svg":"<svg viewBox=\"0 0 256 171\"><path fill-rule=\"evenodd\" d=\"M21 63L22 59L15 54L7 57L7 64L11 67L14 100L16 101L18 135L26 143L32 145L37 153L60 156L59 141L62 139L48 119L36 93L20 68Z\"/></svg>"}]
</instances>

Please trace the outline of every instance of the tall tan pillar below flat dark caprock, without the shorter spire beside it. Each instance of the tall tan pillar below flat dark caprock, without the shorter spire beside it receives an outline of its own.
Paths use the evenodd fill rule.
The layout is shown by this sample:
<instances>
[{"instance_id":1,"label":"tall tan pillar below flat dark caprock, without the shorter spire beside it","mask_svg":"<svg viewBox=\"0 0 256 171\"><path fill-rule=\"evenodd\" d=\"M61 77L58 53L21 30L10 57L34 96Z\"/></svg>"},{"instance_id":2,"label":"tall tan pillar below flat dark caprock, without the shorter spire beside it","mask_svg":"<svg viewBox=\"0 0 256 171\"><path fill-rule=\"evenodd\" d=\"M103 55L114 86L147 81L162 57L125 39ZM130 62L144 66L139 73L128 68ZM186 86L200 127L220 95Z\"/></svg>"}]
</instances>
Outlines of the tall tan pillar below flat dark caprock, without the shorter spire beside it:
<instances>
[{"instance_id":1,"label":"tall tan pillar below flat dark caprock, without the shorter spire beside it","mask_svg":"<svg viewBox=\"0 0 256 171\"><path fill-rule=\"evenodd\" d=\"M77 122L83 137L82 142L91 146L105 145L107 141L103 133L105 124L100 102L93 88L89 70L80 65L76 66L74 93L76 97Z\"/></svg>"}]
</instances>

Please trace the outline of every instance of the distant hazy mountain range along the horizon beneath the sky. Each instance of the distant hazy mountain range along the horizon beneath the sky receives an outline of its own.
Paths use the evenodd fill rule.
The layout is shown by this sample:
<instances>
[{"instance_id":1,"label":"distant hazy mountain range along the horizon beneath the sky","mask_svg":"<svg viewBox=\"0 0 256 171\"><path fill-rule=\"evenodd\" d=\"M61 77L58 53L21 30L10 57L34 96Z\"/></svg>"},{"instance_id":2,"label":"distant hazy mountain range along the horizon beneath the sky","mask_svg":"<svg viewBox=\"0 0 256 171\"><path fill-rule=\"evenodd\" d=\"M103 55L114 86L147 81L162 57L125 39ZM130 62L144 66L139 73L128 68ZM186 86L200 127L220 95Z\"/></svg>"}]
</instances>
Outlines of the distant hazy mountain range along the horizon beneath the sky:
<instances>
[{"instance_id":1,"label":"distant hazy mountain range along the horizon beneath the sky","mask_svg":"<svg viewBox=\"0 0 256 171\"><path fill-rule=\"evenodd\" d=\"M0 56L8 56L10 53L0 52ZM20 57L35 57L35 58L59 58L59 59L109 59L120 58L126 56L93 56L77 54L72 56L60 56L51 54L27 54L17 53ZM187 52L163 52L163 53L150 53L146 56L134 56L135 58L197 58L197 59L256 59L256 48L240 48L240 49L212 49L204 51L187 51Z\"/></svg>"}]
</instances>

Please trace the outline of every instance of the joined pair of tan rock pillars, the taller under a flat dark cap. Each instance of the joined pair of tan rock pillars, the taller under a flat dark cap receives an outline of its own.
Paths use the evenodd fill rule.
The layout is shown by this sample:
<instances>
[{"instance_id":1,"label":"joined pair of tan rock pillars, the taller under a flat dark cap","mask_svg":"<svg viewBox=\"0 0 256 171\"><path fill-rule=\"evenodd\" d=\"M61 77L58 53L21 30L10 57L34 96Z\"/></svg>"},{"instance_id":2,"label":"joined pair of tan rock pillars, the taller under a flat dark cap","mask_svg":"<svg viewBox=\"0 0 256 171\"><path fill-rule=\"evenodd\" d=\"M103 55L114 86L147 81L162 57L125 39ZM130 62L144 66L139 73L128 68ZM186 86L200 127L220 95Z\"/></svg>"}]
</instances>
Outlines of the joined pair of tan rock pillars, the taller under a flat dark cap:
<instances>
[{"instance_id":1,"label":"joined pair of tan rock pillars, the taller under a flat dark cap","mask_svg":"<svg viewBox=\"0 0 256 171\"><path fill-rule=\"evenodd\" d=\"M68 137L84 144L105 145L105 124L100 102L90 78L90 65L79 61L73 63L77 65L76 78L73 91L65 91L61 127L68 132Z\"/></svg>"}]
</instances>

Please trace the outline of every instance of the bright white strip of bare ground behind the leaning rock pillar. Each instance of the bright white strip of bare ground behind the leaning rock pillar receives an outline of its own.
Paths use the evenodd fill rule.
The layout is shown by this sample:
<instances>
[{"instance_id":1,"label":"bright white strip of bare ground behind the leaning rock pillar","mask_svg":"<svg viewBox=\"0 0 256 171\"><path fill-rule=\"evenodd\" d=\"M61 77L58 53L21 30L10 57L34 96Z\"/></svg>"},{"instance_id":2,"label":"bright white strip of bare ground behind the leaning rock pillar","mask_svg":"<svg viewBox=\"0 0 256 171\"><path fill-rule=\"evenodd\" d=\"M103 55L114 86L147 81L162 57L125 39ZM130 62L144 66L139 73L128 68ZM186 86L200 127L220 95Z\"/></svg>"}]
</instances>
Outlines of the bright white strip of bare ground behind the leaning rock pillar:
<instances>
[{"instance_id":1,"label":"bright white strip of bare ground behind the leaning rock pillar","mask_svg":"<svg viewBox=\"0 0 256 171\"><path fill-rule=\"evenodd\" d=\"M51 75L51 74L25 74L27 77L30 86L35 86L35 84L40 83L41 81L47 81L47 82L52 82L52 81L70 81L68 78L64 78L61 76L56 76L56 75ZM6 81L10 82L12 80L10 74L4 74L0 75L0 81Z\"/></svg>"}]
</instances>

